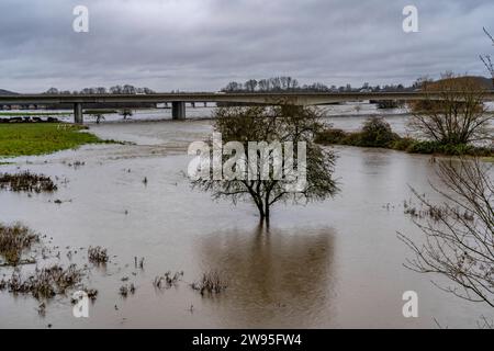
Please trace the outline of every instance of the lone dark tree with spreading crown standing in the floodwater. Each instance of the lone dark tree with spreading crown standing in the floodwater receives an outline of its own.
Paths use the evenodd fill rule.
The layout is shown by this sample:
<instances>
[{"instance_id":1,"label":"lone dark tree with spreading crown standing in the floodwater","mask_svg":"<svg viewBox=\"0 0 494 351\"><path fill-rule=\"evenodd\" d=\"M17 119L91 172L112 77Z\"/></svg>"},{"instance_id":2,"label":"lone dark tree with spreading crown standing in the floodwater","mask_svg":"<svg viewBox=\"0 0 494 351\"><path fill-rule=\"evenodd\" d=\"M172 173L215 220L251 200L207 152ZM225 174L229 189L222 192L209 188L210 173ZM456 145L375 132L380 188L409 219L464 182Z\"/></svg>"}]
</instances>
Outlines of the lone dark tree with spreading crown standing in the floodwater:
<instances>
[{"instance_id":1,"label":"lone dark tree with spreading crown standing in the floodwater","mask_svg":"<svg viewBox=\"0 0 494 351\"><path fill-rule=\"evenodd\" d=\"M235 166L238 176L247 173L254 167L256 170L266 169L269 177L261 177L262 171L256 171L254 177L249 178L215 180L214 177L204 177L193 180L192 185L211 192L214 199L229 199L234 204L248 199L256 205L260 220L267 223L271 207L276 203L325 200L334 195L338 188L333 178L335 154L314 143L314 136L323 127L319 112L310 107L284 104L271 109L265 106L217 109L214 128L216 133L221 133L224 143L238 143L244 150L249 150L251 141L271 146L291 143L293 149L299 149L299 144L303 144L306 152L299 155L292 150L294 157L292 165L288 165L288 158L283 159L283 163L280 161L279 165L284 166L282 178L274 177L278 173L277 167L273 166L274 159L281 159L278 148L267 148L266 154L257 149L246 152L243 157L235 154L235 157L238 157L238 163ZM287 156L287 152L285 148L283 155ZM265 161L268 163L265 165ZM225 168L226 165L229 165L229 159L222 161L221 166ZM293 183L292 178L299 179L296 173L302 169L304 171L299 176L303 179L303 185L300 189L290 189L288 185ZM213 171L207 170L207 174L210 172Z\"/></svg>"}]
</instances>

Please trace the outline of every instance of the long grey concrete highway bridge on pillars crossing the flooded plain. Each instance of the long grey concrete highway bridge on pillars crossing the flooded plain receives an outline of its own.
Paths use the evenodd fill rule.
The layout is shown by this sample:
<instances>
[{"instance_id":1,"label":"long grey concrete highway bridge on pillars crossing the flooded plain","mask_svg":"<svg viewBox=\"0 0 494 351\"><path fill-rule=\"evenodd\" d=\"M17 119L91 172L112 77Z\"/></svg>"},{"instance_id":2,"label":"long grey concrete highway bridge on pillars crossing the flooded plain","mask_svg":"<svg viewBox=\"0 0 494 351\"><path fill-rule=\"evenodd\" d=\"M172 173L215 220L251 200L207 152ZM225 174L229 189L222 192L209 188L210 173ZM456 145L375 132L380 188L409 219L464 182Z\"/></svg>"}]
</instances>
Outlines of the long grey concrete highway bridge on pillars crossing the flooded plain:
<instances>
[{"instance_id":1,"label":"long grey concrete highway bridge on pillars crossing the flooded plain","mask_svg":"<svg viewBox=\"0 0 494 351\"><path fill-rule=\"evenodd\" d=\"M279 92L279 93L153 93L153 94L18 94L0 95L0 105L74 105L74 122L83 123L83 104L98 103L171 103L173 120L186 118L186 103L245 103L277 105L323 105L366 100L441 100L441 92ZM483 93L484 101L494 101L494 91Z\"/></svg>"}]
</instances>

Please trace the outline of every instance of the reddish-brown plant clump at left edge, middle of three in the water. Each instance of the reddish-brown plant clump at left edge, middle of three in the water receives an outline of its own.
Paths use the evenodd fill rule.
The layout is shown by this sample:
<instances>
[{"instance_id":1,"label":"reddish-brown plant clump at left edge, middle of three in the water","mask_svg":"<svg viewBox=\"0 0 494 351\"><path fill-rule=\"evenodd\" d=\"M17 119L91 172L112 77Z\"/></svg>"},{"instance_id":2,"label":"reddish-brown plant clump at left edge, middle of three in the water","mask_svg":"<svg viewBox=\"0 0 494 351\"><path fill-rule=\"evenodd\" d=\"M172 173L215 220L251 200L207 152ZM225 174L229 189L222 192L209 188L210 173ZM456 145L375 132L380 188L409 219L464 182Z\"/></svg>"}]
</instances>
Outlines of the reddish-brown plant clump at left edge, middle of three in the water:
<instances>
[{"instance_id":1,"label":"reddish-brown plant clump at left edge, middle of three in the water","mask_svg":"<svg viewBox=\"0 0 494 351\"><path fill-rule=\"evenodd\" d=\"M40 242L40 236L30 228L15 224L5 226L0 224L0 256L3 265L18 265L21 263L33 263L33 260L22 260L22 254L31 247Z\"/></svg>"}]
</instances>

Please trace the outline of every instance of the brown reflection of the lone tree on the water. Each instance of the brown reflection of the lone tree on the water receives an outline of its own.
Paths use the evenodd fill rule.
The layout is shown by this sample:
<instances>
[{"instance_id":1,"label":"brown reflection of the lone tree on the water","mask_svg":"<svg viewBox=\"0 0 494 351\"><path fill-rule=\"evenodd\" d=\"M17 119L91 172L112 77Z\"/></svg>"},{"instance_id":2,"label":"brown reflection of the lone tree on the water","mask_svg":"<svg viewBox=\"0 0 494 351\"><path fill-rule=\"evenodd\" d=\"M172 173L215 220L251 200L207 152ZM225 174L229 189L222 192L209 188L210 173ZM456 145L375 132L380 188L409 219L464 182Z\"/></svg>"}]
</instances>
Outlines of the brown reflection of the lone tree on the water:
<instances>
[{"instance_id":1,"label":"brown reflection of the lone tree on the water","mask_svg":"<svg viewBox=\"0 0 494 351\"><path fill-rule=\"evenodd\" d=\"M330 320L334 230L228 230L201 239L203 270L218 271L225 293L204 301L225 327L310 327Z\"/></svg>"}]
</instances>

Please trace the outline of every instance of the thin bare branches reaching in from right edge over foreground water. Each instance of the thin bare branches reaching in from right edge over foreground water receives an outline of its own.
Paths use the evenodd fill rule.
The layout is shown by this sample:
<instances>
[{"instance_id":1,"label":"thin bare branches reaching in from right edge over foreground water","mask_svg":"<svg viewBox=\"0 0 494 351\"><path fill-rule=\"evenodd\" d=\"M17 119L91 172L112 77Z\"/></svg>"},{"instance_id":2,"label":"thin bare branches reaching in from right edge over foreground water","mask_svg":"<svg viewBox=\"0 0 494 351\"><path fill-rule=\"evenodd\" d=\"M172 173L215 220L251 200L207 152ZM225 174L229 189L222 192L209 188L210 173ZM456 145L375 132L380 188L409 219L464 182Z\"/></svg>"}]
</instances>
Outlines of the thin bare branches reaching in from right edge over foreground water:
<instances>
[{"instance_id":1,"label":"thin bare branches reaching in from right edge over foreground water","mask_svg":"<svg viewBox=\"0 0 494 351\"><path fill-rule=\"evenodd\" d=\"M405 265L420 273L437 273L451 284L440 288L472 302L494 307L494 183L492 165L479 159L444 161L438 174L442 197L434 204L416 196L433 214L429 219L414 219L424 234L416 242L398 234L415 253Z\"/></svg>"}]
</instances>

